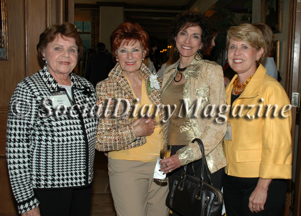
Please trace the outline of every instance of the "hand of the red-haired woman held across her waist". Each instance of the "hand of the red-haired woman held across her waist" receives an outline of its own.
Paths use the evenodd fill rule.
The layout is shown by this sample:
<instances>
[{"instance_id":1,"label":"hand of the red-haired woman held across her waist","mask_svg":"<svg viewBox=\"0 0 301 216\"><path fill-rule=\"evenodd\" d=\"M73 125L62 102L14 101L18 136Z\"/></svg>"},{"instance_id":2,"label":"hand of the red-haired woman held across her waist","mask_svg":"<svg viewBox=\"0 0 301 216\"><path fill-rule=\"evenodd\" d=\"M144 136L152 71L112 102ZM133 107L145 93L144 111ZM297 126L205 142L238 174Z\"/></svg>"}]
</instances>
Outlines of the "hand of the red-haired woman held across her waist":
<instances>
[{"instance_id":1,"label":"hand of the red-haired woman held across her waist","mask_svg":"<svg viewBox=\"0 0 301 216\"><path fill-rule=\"evenodd\" d=\"M156 125L158 125L158 122L156 122L156 119L152 115L150 117L138 118L132 123L136 137L151 135Z\"/></svg>"}]
</instances>

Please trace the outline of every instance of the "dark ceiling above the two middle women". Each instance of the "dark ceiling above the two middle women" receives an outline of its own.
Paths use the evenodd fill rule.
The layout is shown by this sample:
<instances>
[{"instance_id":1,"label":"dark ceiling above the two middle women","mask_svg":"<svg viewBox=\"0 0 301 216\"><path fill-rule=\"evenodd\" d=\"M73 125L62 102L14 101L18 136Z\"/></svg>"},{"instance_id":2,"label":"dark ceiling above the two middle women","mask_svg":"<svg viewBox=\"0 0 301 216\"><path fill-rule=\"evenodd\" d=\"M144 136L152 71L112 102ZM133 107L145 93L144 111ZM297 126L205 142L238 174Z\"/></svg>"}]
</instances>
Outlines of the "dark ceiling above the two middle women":
<instances>
[{"instance_id":1,"label":"dark ceiling above the two middle women","mask_svg":"<svg viewBox=\"0 0 301 216\"><path fill-rule=\"evenodd\" d=\"M193 5L203 7L203 12L215 4L215 7L229 7L242 13L239 11L246 12L246 1L248 0L75 0L75 9L97 10L100 6L122 6L126 21L139 23L150 36L166 40L172 19ZM209 16L212 14L214 13Z\"/></svg>"}]
</instances>

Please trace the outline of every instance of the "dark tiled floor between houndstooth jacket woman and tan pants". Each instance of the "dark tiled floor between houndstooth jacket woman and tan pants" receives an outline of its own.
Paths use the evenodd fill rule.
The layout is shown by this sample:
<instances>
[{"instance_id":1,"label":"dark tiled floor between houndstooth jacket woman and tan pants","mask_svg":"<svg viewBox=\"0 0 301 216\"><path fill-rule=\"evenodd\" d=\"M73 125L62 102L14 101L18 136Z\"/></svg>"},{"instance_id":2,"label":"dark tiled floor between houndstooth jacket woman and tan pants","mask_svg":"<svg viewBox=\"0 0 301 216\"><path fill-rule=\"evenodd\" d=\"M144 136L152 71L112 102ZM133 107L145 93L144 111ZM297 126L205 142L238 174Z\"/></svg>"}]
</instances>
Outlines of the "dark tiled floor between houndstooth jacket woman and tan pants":
<instances>
[{"instance_id":1,"label":"dark tiled floor between houndstooth jacket woman and tan pants","mask_svg":"<svg viewBox=\"0 0 301 216\"><path fill-rule=\"evenodd\" d=\"M109 185L108 158L95 151L90 216L116 216Z\"/></svg>"}]
</instances>

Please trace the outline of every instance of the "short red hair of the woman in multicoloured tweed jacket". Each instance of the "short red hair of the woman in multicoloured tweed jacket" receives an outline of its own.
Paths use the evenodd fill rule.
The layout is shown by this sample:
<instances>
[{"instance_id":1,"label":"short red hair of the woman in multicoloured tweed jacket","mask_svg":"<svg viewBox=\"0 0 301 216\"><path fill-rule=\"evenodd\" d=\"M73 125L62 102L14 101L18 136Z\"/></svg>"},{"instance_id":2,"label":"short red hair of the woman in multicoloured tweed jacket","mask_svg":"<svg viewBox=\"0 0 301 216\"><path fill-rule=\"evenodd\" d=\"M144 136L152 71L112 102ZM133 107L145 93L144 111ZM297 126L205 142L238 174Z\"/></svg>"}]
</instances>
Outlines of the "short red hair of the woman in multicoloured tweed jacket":
<instances>
[{"instance_id":1,"label":"short red hair of the woman in multicoloured tweed jacket","mask_svg":"<svg viewBox=\"0 0 301 216\"><path fill-rule=\"evenodd\" d=\"M125 22L120 24L117 29L110 36L111 51L116 57L116 50L125 43L129 45L130 42L140 42L143 50L146 51L146 55L149 54L149 35L138 24L132 24L131 22ZM122 44L121 44L122 43Z\"/></svg>"}]
</instances>

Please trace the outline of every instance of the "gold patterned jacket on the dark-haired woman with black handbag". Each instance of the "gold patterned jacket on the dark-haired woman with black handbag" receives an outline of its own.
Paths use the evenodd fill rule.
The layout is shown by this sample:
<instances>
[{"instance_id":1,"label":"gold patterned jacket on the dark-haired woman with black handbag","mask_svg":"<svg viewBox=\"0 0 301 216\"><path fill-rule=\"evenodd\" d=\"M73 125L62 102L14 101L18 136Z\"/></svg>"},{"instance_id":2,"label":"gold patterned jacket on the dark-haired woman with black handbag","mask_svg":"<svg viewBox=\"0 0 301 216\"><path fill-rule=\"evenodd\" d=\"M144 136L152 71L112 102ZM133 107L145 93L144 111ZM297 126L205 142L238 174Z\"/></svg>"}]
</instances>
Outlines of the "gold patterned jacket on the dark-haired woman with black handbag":
<instances>
[{"instance_id":1,"label":"gold patterned jacket on the dark-haired woman with black handbag","mask_svg":"<svg viewBox=\"0 0 301 216\"><path fill-rule=\"evenodd\" d=\"M164 94L167 86L171 83L177 72L179 62L169 66L164 73L161 95ZM215 62L193 59L192 63L183 72L186 82L183 88L183 97L188 100L188 107L197 99L201 99L198 117L191 117L192 111L188 114L190 126L181 128L181 131L192 130L195 137L200 138L205 147L207 164L211 173L225 167L226 158L223 149L223 137L226 133L226 123L216 123L213 117L204 117L204 108L207 104L226 104L223 69ZM225 115L225 114L224 114ZM202 158L202 153L197 143L187 145L177 151L181 164L187 165Z\"/></svg>"}]
</instances>

